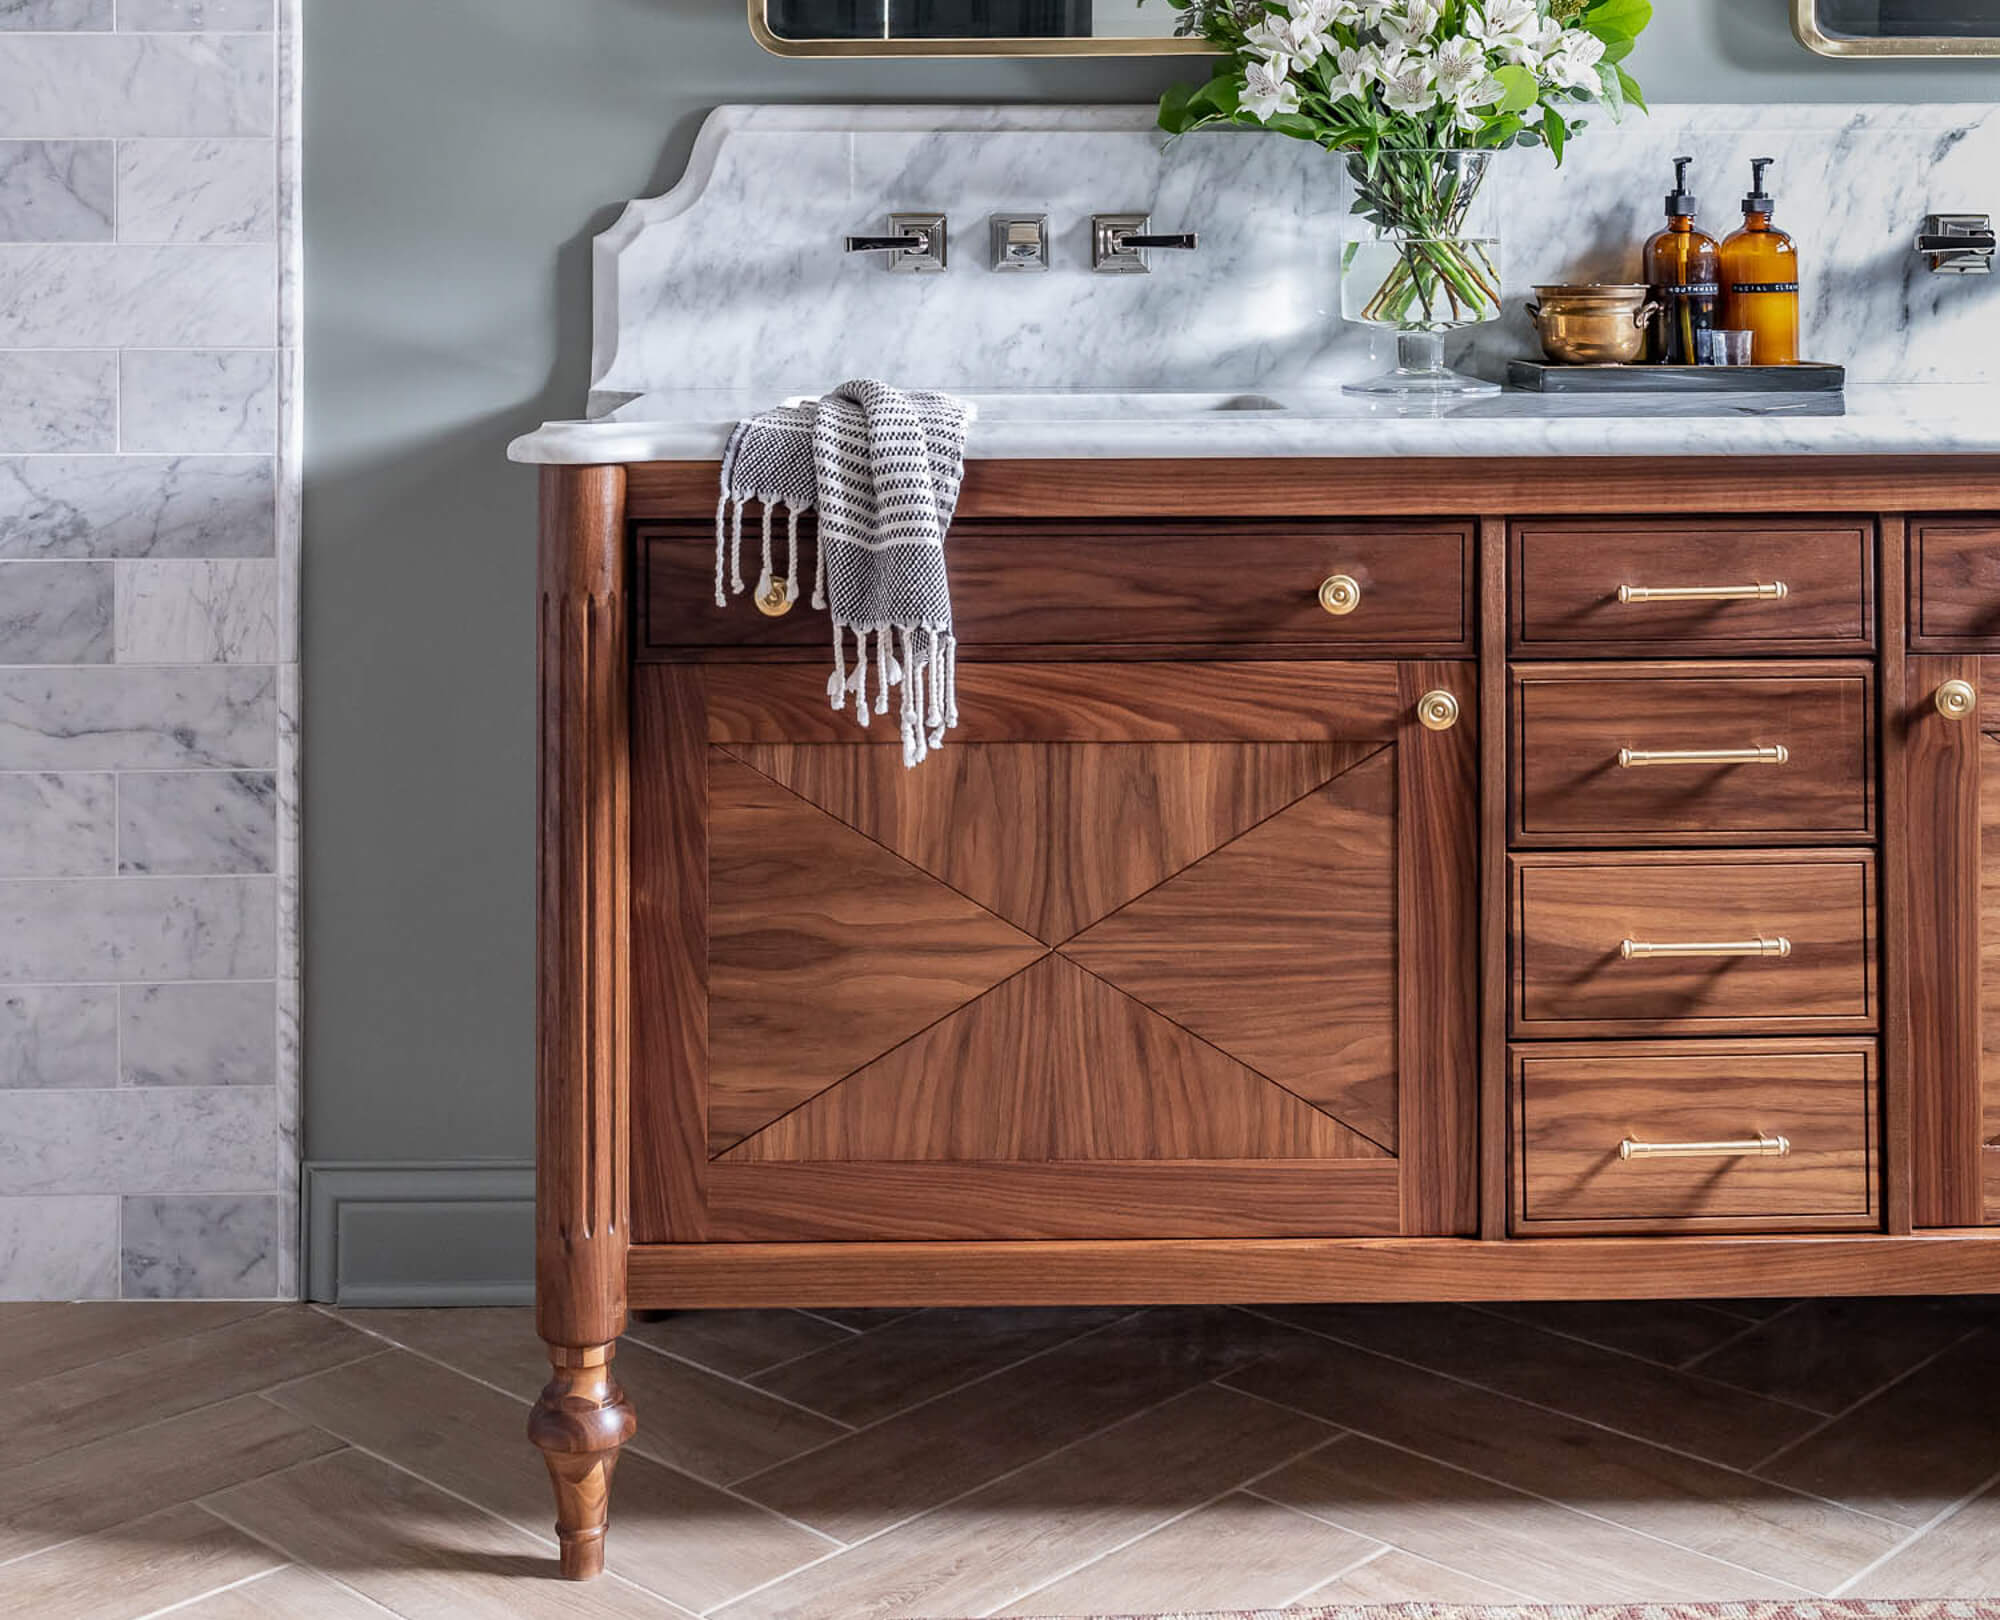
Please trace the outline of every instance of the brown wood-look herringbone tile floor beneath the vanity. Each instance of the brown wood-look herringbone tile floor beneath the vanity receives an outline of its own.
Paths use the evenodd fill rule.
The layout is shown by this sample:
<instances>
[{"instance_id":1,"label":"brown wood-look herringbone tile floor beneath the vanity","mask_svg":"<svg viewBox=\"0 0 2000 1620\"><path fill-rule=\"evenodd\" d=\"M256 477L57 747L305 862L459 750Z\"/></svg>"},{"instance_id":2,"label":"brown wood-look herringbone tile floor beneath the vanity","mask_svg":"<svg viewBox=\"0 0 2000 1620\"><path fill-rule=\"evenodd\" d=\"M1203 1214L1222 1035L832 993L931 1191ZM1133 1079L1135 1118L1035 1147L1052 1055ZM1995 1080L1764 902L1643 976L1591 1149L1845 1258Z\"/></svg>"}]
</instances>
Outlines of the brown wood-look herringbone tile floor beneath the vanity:
<instances>
[{"instance_id":1,"label":"brown wood-look herringbone tile floor beneath the vanity","mask_svg":"<svg viewBox=\"0 0 2000 1620\"><path fill-rule=\"evenodd\" d=\"M0 1614L2000 1592L2000 1306L682 1314L552 1578L524 1310L0 1306Z\"/></svg>"}]
</instances>

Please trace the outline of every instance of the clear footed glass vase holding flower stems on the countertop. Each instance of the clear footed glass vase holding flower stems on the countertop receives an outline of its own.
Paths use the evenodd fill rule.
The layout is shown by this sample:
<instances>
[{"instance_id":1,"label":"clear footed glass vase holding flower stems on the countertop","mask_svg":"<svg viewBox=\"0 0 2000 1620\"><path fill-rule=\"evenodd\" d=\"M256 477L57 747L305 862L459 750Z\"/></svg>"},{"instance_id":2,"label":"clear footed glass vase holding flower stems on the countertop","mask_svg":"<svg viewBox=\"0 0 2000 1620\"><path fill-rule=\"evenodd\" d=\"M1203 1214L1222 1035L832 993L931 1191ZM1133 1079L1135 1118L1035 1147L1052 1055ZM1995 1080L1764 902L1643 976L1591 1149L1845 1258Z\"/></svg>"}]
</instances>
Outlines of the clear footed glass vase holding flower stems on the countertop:
<instances>
[{"instance_id":1,"label":"clear footed glass vase holding flower stems on the countertop","mask_svg":"<svg viewBox=\"0 0 2000 1620\"><path fill-rule=\"evenodd\" d=\"M1444 366L1444 334L1500 318L1492 152L1352 152L1354 220L1340 256L1340 314L1396 334L1396 370L1350 394L1446 398L1498 384Z\"/></svg>"}]
</instances>

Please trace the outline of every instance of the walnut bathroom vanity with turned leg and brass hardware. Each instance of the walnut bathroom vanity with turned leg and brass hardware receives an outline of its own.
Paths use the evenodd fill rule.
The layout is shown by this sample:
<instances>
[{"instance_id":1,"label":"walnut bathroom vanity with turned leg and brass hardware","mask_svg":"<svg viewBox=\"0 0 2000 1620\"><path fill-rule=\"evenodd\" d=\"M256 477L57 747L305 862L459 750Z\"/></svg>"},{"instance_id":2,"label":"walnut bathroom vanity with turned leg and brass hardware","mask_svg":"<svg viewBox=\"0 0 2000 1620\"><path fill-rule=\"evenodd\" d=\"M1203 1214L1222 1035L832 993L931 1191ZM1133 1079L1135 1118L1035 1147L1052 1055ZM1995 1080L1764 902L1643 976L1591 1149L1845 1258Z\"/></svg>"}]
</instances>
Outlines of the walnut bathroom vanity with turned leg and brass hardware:
<instances>
[{"instance_id":1,"label":"walnut bathroom vanity with turned leg and brass hardware","mask_svg":"<svg viewBox=\"0 0 2000 1620\"><path fill-rule=\"evenodd\" d=\"M542 470L566 1574L628 1304L2000 1288L2000 458L972 462L916 770L714 508Z\"/></svg>"}]
</instances>

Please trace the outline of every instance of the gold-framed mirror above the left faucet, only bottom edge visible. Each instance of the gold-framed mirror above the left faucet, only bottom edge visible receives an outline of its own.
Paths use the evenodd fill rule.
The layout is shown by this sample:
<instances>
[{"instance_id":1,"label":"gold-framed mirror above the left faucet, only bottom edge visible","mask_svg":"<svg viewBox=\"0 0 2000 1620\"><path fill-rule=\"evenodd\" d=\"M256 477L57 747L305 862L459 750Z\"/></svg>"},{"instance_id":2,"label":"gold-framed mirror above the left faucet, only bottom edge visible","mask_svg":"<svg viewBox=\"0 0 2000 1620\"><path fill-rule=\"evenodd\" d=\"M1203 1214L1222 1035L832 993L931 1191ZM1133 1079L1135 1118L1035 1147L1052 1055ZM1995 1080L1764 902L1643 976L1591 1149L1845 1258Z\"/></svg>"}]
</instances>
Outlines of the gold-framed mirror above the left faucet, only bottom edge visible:
<instances>
[{"instance_id":1,"label":"gold-framed mirror above the left faucet, only bottom edge visible","mask_svg":"<svg viewBox=\"0 0 2000 1620\"><path fill-rule=\"evenodd\" d=\"M1166 0L750 0L774 56L1200 56Z\"/></svg>"}]
</instances>

